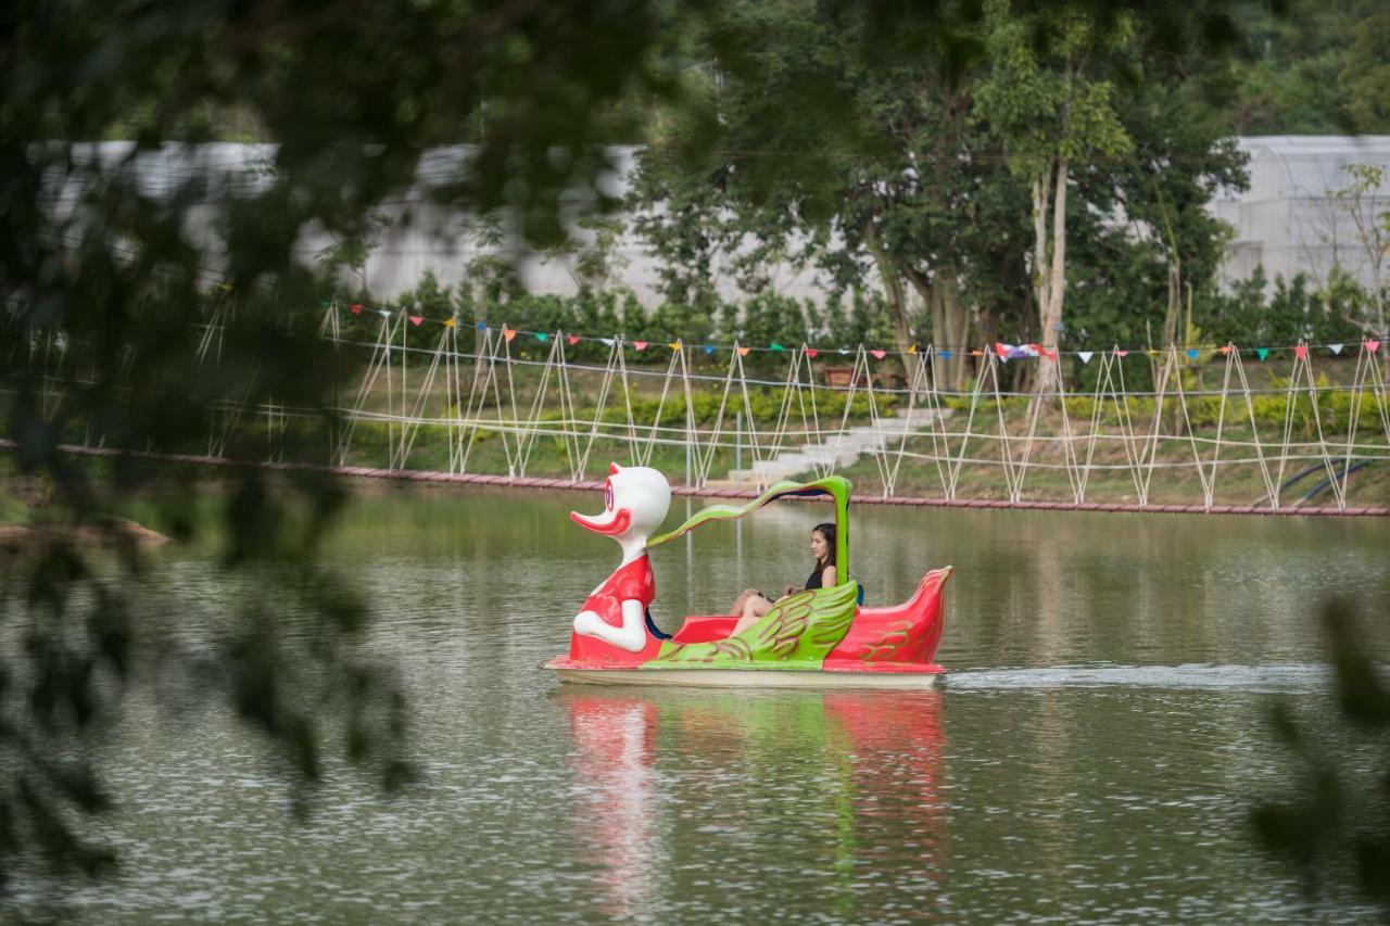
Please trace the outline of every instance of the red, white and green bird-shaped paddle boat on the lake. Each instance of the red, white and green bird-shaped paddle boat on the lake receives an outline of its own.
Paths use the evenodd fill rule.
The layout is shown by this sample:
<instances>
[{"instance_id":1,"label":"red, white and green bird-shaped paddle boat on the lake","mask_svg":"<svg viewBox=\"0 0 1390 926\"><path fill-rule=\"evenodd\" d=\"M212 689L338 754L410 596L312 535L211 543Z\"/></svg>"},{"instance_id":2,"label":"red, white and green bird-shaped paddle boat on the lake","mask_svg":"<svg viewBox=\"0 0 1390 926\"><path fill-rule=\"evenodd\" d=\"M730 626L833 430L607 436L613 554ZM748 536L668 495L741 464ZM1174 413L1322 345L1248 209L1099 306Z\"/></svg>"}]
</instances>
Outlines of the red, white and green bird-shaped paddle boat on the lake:
<instances>
[{"instance_id":1,"label":"red, white and green bird-shaped paddle boat on the lake","mask_svg":"<svg viewBox=\"0 0 1390 926\"><path fill-rule=\"evenodd\" d=\"M744 517L780 498L830 496L835 505L838 585L778 601L756 624L731 635L735 615L685 617L674 634L652 620L656 598L649 551L717 520ZM613 463L603 512L570 519L623 548L619 567L574 617L570 652L546 663L562 681L600 685L777 688L930 688L944 670L933 659L944 622L941 592L951 567L929 571L916 594L892 608L862 606L849 562L849 481L777 482L742 506L712 505L653 537L671 489L657 470Z\"/></svg>"}]
</instances>

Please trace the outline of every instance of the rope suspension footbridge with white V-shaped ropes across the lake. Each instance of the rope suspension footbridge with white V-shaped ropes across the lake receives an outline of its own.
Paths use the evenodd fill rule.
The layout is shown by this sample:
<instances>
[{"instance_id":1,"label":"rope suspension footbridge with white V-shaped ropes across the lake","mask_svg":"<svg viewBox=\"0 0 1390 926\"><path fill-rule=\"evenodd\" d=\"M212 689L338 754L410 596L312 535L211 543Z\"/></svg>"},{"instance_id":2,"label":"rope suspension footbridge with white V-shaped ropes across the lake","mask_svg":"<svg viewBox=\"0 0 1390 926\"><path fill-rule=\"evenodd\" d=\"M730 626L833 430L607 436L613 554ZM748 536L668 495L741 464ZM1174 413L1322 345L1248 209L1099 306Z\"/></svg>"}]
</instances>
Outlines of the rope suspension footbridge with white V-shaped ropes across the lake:
<instances>
[{"instance_id":1,"label":"rope suspension footbridge with white V-shaped ropes across the lake","mask_svg":"<svg viewBox=\"0 0 1390 926\"><path fill-rule=\"evenodd\" d=\"M859 501L891 505L1387 513L1390 402L1382 346L1369 339L1337 357L1300 343L1282 374L1236 345L1095 352L1087 388L1069 389L1063 375L1051 392L1024 393L1009 391L1008 364L1058 363L1055 353L1011 360L983 346L970 352L969 388L951 389L949 353L931 345L888 375L885 352L863 346L834 352L837 366L808 345L778 348L755 368L739 345L724 363L680 341L585 338L605 359L575 362L566 356L575 335L524 332L523 345L506 325L435 324L381 310L375 339L354 339L338 311L324 314L318 335L353 352L360 377L336 402L342 427L327 432L321 460L286 460L288 431L316 413L275 402L229 403L206 453L147 453L550 489L589 488L614 459L657 466L692 495L841 473ZM220 338L214 316L202 363L218 363ZM1126 388L1134 364L1152 385ZM254 431L264 455L250 459ZM234 435L238 459L227 456Z\"/></svg>"}]
</instances>

